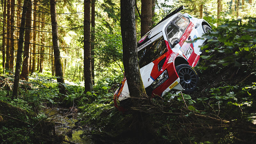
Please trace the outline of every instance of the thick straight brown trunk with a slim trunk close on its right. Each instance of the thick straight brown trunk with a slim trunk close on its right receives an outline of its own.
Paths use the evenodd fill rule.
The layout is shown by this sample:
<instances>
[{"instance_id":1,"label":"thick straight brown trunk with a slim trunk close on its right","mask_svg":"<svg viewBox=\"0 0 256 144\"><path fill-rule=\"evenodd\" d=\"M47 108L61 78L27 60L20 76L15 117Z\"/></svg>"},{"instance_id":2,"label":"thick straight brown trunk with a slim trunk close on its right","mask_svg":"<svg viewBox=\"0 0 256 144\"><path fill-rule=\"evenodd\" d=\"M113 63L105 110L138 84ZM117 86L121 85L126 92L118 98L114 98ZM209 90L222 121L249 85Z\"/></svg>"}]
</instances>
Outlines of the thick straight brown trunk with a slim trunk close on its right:
<instances>
[{"instance_id":1,"label":"thick straight brown trunk with a slim trunk close on its right","mask_svg":"<svg viewBox=\"0 0 256 144\"><path fill-rule=\"evenodd\" d=\"M91 3L84 0L84 92L92 91L91 67Z\"/></svg>"}]
</instances>

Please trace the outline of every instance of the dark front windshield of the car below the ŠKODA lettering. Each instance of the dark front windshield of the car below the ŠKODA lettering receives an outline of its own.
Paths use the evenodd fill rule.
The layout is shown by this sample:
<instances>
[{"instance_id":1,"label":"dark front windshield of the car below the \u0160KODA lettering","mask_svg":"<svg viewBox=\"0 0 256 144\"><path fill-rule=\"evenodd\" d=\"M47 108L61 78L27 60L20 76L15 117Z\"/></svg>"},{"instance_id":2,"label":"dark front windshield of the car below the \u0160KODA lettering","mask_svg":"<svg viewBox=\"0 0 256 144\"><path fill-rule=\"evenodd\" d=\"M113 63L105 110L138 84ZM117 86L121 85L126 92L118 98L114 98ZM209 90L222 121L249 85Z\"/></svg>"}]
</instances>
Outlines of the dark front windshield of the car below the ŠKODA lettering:
<instances>
[{"instance_id":1,"label":"dark front windshield of the car below the \u0160KODA lettering","mask_svg":"<svg viewBox=\"0 0 256 144\"><path fill-rule=\"evenodd\" d=\"M164 42L163 36L158 38L153 43L149 44L145 48L138 51L138 58L139 58L139 66L140 68L146 66L150 62L156 60L165 52L167 52L167 47Z\"/></svg>"}]
</instances>

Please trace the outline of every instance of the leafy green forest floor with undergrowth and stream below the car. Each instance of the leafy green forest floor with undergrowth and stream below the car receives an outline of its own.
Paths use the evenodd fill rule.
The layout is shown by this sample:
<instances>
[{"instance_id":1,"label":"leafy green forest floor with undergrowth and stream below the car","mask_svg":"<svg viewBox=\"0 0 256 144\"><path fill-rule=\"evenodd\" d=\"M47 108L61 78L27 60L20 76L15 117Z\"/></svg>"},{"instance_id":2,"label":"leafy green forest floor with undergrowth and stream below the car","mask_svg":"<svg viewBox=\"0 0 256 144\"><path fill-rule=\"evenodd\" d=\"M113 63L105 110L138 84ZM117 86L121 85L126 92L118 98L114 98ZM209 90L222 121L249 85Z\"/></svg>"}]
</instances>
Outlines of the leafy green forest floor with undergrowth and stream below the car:
<instances>
[{"instance_id":1,"label":"leafy green forest floor with undergrowth and stream below the car","mask_svg":"<svg viewBox=\"0 0 256 144\"><path fill-rule=\"evenodd\" d=\"M210 65L204 60L200 66ZM1 77L2 143L254 143L256 76L246 67L197 69L195 92L151 99L137 110L119 112L113 104L118 80L99 82L83 94L79 85L57 84L40 77L21 81L11 98L12 76ZM8 96L9 93L9 96ZM32 127L32 128L31 128ZM38 141L37 141L38 142Z\"/></svg>"}]
</instances>

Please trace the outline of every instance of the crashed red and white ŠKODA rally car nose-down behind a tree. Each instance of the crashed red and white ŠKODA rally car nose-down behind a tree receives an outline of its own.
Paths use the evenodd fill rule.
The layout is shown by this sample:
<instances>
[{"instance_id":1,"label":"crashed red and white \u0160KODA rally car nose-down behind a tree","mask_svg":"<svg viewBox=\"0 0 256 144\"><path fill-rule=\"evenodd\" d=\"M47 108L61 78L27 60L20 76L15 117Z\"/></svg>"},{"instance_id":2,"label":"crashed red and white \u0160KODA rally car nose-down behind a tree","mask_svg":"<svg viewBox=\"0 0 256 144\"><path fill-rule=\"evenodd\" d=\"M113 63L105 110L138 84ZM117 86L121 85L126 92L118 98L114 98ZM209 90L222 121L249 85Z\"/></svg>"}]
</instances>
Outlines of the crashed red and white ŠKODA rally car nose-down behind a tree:
<instances>
[{"instance_id":1,"label":"crashed red and white \u0160KODA rally car nose-down behind a tree","mask_svg":"<svg viewBox=\"0 0 256 144\"><path fill-rule=\"evenodd\" d=\"M198 75L193 67L202 53L200 46L207 41L204 35L212 28L204 19L180 13L183 9L181 6L167 15L137 42L140 75L148 96L196 89ZM114 95L115 106L120 108L128 98L124 76Z\"/></svg>"}]
</instances>

